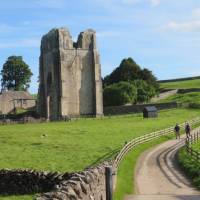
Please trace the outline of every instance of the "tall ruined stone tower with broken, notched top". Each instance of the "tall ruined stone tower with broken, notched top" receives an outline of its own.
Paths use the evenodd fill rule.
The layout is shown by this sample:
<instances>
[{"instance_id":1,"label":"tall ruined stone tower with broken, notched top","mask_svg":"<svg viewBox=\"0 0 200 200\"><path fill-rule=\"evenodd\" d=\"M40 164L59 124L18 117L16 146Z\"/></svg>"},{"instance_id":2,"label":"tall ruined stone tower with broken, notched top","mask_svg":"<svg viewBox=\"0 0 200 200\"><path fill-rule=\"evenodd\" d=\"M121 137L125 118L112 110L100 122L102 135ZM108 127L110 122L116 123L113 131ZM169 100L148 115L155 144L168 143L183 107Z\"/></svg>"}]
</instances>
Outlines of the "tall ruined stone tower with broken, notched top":
<instances>
[{"instance_id":1,"label":"tall ruined stone tower with broken, notched top","mask_svg":"<svg viewBox=\"0 0 200 200\"><path fill-rule=\"evenodd\" d=\"M41 42L38 111L55 120L102 115L101 65L93 30L72 41L65 28L53 29Z\"/></svg>"}]
</instances>

